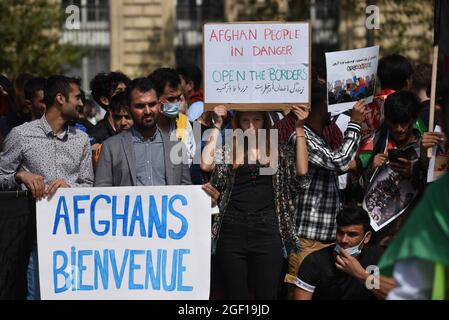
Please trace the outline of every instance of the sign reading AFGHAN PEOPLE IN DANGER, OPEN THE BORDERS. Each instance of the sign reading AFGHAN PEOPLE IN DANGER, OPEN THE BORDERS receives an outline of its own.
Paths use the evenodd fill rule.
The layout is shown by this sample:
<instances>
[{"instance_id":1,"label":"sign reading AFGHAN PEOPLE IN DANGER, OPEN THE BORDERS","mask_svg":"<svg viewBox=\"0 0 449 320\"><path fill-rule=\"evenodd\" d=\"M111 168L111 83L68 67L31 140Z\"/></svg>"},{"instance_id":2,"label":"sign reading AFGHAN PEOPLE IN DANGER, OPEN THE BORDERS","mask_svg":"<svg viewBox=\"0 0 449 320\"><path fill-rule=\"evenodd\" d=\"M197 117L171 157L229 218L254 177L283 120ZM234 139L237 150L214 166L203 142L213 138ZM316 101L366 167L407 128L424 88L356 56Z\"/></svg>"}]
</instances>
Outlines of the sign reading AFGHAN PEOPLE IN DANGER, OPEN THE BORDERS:
<instances>
[{"instance_id":1,"label":"sign reading AFGHAN PEOPLE IN DANGER, OPEN THE BORDERS","mask_svg":"<svg viewBox=\"0 0 449 320\"><path fill-rule=\"evenodd\" d=\"M204 25L207 110L308 103L309 75L308 23Z\"/></svg>"}]
</instances>

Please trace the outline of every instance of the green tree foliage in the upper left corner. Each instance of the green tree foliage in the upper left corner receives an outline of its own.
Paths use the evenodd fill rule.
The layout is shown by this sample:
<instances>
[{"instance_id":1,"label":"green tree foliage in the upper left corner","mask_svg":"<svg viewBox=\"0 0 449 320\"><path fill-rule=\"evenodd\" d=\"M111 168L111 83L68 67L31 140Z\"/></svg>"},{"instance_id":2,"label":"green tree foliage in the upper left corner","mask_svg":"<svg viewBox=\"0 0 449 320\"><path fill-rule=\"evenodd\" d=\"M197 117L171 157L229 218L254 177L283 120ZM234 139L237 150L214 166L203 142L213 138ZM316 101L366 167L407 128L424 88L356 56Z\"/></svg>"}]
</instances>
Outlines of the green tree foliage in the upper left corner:
<instances>
[{"instance_id":1,"label":"green tree foliage in the upper left corner","mask_svg":"<svg viewBox=\"0 0 449 320\"><path fill-rule=\"evenodd\" d=\"M48 76L79 63L83 50L60 42L59 1L0 0L0 72Z\"/></svg>"}]
</instances>

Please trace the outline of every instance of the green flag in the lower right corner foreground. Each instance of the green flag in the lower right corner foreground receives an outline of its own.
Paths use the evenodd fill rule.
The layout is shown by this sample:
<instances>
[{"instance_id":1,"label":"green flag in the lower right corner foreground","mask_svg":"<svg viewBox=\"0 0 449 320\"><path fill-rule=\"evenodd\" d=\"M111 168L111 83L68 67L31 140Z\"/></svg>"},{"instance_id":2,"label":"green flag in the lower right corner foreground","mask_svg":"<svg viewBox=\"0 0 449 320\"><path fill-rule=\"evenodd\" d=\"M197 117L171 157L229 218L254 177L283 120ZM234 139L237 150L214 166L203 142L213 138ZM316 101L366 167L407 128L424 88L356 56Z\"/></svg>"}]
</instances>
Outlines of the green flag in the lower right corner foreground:
<instances>
[{"instance_id":1,"label":"green flag in the lower right corner foreground","mask_svg":"<svg viewBox=\"0 0 449 320\"><path fill-rule=\"evenodd\" d=\"M382 256L380 272L391 277L396 262L411 258L434 263L433 297L448 299L449 174L427 187L406 224Z\"/></svg>"}]
</instances>

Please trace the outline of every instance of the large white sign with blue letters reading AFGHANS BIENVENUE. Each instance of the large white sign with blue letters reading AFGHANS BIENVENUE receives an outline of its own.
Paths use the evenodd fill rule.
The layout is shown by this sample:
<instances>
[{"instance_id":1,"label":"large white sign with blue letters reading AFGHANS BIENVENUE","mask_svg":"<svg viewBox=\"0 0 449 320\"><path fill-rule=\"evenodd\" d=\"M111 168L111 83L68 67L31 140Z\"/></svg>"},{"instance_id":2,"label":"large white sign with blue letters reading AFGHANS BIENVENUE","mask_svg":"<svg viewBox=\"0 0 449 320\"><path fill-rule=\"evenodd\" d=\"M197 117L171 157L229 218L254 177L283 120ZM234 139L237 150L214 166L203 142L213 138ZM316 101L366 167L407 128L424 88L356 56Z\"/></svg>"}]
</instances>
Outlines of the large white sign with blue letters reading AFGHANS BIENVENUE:
<instances>
[{"instance_id":1,"label":"large white sign with blue letters reading AFGHANS BIENVENUE","mask_svg":"<svg viewBox=\"0 0 449 320\"><path fill-rule=\"evenodd\" d=\"M208 299L201 186L59 189L37 202L43 299Z\"/></svg>"}]
</instances>

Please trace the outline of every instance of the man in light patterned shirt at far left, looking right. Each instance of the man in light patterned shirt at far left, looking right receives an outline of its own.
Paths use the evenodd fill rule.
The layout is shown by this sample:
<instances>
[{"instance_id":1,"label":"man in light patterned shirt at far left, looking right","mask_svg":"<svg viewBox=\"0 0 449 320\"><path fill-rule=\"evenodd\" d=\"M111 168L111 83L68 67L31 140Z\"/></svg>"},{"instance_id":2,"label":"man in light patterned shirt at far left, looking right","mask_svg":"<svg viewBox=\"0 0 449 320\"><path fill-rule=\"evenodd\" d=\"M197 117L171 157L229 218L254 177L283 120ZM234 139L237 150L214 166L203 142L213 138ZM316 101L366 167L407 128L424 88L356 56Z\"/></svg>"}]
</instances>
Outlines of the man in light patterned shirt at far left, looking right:
<instances>
[{"instance_id":1,"label":"man in light patterned shirt at far left, looking right","mask_svg":"<svg viewBox=\"0 0 449 320\"><path fill-rule=\"evenodd\" d=\"M80 84L65 76L48 78L45 115L11 130L0 154L0 190L28 189L34 198L58 188L90 187L93 169L87 134L69 125L82 110ZM35 235L34 235L35 236ZM37 249L28 267L28 299L39 299Z\"/></svg>"}]
</instances>

